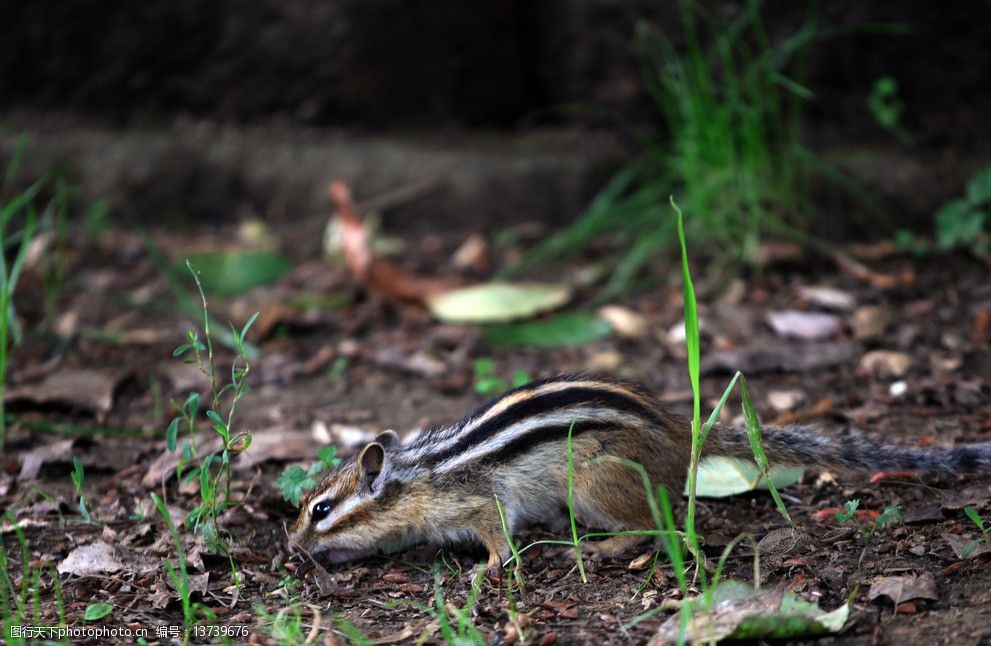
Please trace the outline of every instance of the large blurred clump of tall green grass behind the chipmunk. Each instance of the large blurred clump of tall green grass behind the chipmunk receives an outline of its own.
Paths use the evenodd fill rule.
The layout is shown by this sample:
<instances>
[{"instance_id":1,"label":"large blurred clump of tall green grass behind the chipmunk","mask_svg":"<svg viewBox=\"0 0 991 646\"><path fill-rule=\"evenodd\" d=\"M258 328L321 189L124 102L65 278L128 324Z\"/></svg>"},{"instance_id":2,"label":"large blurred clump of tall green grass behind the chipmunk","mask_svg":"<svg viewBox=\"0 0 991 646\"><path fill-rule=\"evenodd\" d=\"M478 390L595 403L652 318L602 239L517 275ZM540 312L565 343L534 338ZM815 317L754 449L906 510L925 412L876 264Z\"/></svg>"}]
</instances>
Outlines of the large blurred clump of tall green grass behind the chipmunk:
<instances>
[{"instance_id":1,"label":"large blurred clump of tall green grass behind the chipmunk","mask_svg":"<svg viewBox=\"0 0 991 646\"><path fill-rule=\"evenodd\" d=\"M791 230L811 211L810 177L825 170L801 141L804 53L819 36L814 15L777 42L750 0L724 19L680 0L680 46L660 27L635 29L643 83L663 136L634 129L641 152L617 172L574 224L524 256L557 258L605 237L618 251L603 298L626 291L675 223L663 204L683 196L692 233L715 255L753 262L768 232Z\"/></svg>"}]
</instances>

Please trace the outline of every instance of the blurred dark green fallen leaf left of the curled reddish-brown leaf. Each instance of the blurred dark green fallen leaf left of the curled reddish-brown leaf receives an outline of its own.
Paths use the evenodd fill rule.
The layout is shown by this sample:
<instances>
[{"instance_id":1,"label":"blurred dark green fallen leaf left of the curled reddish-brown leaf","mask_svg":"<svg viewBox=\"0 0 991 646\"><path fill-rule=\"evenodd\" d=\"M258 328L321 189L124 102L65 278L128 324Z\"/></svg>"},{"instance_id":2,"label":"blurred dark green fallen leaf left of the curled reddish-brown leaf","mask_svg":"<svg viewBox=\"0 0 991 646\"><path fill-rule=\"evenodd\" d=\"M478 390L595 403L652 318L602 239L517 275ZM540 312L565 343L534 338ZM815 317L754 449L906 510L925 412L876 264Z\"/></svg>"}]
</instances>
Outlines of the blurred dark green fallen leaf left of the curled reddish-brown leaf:
<instances>
[{"instance_id":1,"label":"blurred dark green fallen leaf left of the curled reddish-brown leaf","mask_svg":"<svg viewBox=\"0 0 991 646\"><path fill-rule=\"evenodd\" d=\"M207 294L238 296L248 290L274 283L292 269L292 261L270 251L210 251L189 256ZM186 258L174 265L186 272Z\"/></svg>"}]
</instances>

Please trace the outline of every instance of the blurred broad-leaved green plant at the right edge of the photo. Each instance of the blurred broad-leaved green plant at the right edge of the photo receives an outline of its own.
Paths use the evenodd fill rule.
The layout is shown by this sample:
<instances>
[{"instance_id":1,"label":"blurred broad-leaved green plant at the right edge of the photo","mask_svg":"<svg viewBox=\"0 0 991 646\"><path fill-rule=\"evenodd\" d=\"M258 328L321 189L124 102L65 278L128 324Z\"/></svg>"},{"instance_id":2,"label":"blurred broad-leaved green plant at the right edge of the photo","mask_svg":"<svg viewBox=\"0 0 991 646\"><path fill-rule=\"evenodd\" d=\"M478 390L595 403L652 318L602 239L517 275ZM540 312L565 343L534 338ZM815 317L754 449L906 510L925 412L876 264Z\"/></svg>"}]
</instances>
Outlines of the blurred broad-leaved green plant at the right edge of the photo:
<instances>
[{"instance_id":1,"label":"blurred broad-leaved green plant at the right edge of the photo","mask_svg":"<svg viewBox=\"0 0 991 646\"><path fill-rule=\"evenodd\" d=\"M941 249L965 247L987 253L991 228L991 167L974 174L962 198L936 213L936 243Z\"/></svg>"}]
</instances>

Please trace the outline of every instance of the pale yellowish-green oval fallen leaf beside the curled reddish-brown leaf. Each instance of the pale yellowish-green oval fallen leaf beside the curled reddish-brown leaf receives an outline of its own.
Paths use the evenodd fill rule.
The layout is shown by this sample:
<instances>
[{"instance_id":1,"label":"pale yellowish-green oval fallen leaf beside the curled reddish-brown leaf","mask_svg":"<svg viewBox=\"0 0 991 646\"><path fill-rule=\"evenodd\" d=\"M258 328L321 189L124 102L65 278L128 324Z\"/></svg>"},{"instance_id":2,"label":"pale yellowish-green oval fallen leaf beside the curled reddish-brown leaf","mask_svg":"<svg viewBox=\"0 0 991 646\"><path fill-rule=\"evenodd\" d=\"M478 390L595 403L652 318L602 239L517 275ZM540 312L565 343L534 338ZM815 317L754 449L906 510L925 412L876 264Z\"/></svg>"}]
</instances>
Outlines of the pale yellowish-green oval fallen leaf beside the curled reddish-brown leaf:
<instances>
[{"instance_id":1,"label":"pale yellowish-green oval fallen leaf beside the curled reddish-brown leaf","mask_svg":"<svg viewBox=\"0 0 991 646\"><path fill-rule=\"evenodd\" d=\"M434 316L449 323L496 323L529 318L570 299L567 285L484 283L444 292L427 306Z\"/></svg>"}]
</instances>

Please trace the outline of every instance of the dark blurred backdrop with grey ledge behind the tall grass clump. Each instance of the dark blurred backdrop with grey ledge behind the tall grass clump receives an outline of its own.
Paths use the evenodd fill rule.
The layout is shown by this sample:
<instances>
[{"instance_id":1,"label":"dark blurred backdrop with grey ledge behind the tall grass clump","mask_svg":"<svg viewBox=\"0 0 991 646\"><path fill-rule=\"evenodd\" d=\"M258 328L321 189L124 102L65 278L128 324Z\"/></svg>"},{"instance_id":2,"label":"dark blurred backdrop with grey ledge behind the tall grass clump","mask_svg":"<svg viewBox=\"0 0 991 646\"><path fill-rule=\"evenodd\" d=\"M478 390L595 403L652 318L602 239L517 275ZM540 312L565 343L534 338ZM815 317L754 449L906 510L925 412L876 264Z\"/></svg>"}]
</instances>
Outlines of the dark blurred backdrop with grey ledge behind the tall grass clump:
<instances>
[{"instance_id":1,"label":"dark blurred backdrop with grey ledge behind the tall grass clump","mask_svg":"<svg viewBox=\"0 0 991 646\"><path fill-rule=\"evenodd\" d=\"M991 151L991 2L762 11L774 35L810 9L839 33L809 50L807 137L892 217L923 226ZM670 26L678 41L677 11L624 0L3 2L3 150L27 133L30 163L73 166L87 190L147 218L290 217L323 208L325 179L340 175L359 198L429 185L390 212L395 222L560 224L632 149L615 121L589 114L658 122L633 25ZM866 107L883 76L898 83L910 149ZM844 157L850 146L869 159Z\"/></svg>"}]
</instances>

